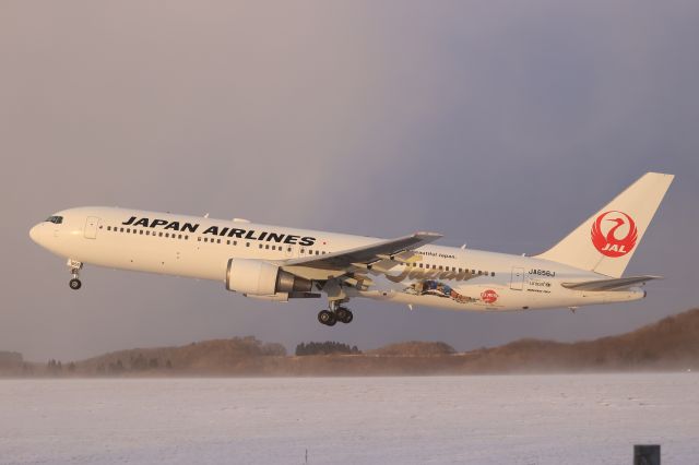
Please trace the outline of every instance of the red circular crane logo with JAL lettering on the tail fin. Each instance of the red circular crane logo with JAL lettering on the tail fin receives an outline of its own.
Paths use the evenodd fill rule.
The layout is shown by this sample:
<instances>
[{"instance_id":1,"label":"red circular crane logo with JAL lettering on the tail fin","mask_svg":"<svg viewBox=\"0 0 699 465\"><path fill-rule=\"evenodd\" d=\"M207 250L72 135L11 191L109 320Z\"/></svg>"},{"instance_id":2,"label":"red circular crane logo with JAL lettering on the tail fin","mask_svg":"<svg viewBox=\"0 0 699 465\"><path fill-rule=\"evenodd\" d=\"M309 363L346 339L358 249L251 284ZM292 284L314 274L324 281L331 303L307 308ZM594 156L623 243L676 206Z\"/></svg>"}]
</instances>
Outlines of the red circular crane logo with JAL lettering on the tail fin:
<instances>
[{"instance_id":1,"label":"red circular crane logo with JAL lettering on the tail fin","mask_svg":"<svg viewBox=\"0 0 699 465\"><path fill-rule=\"evenodd\" d=\"M611 210L597 216L592 225L591 239L603 255L624 257L636 247L638 229L629 215Z\"/></svg>"}]
</instances>

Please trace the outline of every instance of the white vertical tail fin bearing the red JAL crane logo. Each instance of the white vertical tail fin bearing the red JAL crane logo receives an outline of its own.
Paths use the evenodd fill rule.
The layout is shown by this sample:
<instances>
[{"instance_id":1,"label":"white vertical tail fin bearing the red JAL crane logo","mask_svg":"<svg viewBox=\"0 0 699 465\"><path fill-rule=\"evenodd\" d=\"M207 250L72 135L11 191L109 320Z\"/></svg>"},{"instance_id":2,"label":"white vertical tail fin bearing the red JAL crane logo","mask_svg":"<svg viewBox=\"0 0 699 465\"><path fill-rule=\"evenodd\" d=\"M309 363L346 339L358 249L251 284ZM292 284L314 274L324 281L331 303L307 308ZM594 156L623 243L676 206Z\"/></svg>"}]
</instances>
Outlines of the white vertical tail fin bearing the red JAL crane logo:
<instances>
[{"instance_id":1,"label":"white vertical tail fin bearing the red JAL crane logo","mask_svg":"<svg viewBox=\"0 0 699 465\"><path fill-rule=\"evenodd\" d=\"M537 258L620 277L673 179L647 172Z\"/></svg>"}]
</instances>

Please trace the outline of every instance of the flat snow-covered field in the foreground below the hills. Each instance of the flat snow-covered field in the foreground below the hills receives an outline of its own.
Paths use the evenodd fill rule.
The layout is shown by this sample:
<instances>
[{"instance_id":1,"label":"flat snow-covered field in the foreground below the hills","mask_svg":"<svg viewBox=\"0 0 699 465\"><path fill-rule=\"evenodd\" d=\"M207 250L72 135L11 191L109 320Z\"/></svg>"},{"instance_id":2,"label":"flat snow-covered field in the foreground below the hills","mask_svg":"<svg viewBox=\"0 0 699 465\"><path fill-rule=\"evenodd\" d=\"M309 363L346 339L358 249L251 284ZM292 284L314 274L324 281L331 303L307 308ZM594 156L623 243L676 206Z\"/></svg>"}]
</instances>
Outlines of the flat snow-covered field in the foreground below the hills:
<instances>
[{"instance_id":1,"label":"flat snow-covered field in the foreground below the hills","mask_svg":"<svg viewBox=\"0 0 699 465\"><path fill-rule=\"evenodd\" d=\"M0 381L3 464L630 464L635 443L699 464L699 375Z\"/></svg>"}]
</instances>

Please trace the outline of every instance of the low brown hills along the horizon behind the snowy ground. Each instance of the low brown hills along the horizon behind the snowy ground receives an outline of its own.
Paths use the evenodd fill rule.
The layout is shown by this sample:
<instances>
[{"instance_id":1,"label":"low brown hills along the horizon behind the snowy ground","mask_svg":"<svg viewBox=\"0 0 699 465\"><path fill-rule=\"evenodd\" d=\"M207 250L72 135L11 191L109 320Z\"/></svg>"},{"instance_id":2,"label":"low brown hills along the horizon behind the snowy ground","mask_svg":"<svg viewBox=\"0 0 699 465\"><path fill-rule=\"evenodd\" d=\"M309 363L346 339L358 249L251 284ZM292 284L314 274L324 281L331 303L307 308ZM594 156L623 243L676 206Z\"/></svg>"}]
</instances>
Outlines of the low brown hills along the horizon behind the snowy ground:
<instances>
[{"instance_id":1,"label":"low brown hills along the horizon behind the snowy ground","mask_svg":"<svg viewBox=\"0 0 699 465\"><path fill-rule=\"evenodd\" d=\"M345 346L325 342L300 344L299 347L313 348L316 345L320 348ZM16 355L8 358L15 362L17 360ZM236 337L180 347L120 350L62 366L56 360L51 360L48 367L32 363L27 370L25 362L26 375L419 375L696 371L699 370L699 309L665 318L630 333L595 341L558 343L520 339L466 353L455 353L451 346L440 342L412 341L366 353L353 347L342 353L287 356L280 344L262 343L254 337Z\"/></svg>"}]
</instances>

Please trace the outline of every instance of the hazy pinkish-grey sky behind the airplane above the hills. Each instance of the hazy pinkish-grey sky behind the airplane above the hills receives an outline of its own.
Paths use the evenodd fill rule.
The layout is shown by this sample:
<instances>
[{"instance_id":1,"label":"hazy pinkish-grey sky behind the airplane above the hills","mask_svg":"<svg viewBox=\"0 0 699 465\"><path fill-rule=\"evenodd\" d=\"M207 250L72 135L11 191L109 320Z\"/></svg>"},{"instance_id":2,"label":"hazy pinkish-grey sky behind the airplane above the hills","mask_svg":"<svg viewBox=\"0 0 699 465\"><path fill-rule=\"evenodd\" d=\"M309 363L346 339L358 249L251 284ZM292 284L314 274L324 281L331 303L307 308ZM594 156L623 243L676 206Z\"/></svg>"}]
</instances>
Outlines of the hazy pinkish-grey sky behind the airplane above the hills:
<instances>
[{"instance_id":1,"label":"hazy pinkish-grey sky behind the airplane above the hills","mask_svg":"<svg viewBox=\"0 0 699 465\"><path fill-rule=\"evenodd\" d=\"M699 305L699 3L0 2L0 350L68 360L256 335L458 349L628 331ZM119 205L547 249L649 170L677 175L628 305L478 314L273 303L64 261L32 225Z\"/></svg>"}]
</instances>

